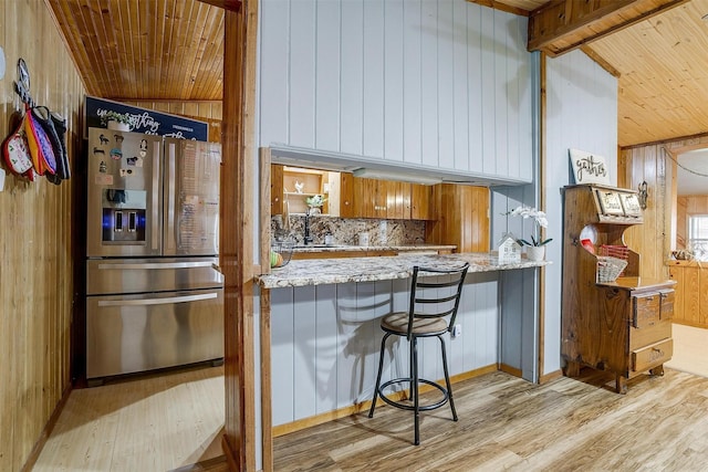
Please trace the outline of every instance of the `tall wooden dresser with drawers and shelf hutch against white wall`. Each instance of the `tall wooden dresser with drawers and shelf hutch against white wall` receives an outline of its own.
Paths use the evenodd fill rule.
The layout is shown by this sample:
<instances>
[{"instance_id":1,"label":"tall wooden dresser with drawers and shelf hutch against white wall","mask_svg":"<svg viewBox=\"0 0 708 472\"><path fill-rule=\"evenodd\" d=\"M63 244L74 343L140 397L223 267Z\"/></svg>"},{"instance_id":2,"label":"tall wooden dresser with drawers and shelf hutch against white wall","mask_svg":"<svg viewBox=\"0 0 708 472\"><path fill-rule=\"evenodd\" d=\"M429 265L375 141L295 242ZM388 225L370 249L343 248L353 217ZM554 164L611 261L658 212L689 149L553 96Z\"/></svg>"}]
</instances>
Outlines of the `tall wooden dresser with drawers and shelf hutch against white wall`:
<instances>
[{"instance_id":1,"label":"tall wooden dresser with drawers and shelf hutch against white wall","mask_svg":"<svg viewBox=\"0 0 708 472\"><path fill-rule=\"evenodd\" d=\"M675 282L639 277L641 258L632 250L618 279L598 279L601 248L623 245L624 231L643 223L634 191L579 185L563 195L563 373L577 376L582 366L611 371L624 394L627 379L662 375L671 358Z\"/></svg>"}]
</instances>

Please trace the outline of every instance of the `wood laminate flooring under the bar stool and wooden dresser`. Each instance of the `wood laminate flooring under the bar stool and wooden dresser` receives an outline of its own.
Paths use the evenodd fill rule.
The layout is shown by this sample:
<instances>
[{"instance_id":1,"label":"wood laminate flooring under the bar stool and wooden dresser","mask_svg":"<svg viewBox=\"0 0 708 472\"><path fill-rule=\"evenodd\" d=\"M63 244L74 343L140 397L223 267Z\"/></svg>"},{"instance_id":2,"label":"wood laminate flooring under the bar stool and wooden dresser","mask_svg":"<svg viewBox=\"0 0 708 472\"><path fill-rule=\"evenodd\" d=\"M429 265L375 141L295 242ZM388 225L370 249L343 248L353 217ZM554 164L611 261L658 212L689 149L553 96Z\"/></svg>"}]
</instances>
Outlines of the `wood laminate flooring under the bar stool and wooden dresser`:
<instances>
[{"instance_id":1,"label":"wood laminate flooring under the bar stool and wooden dresser","mask_svg":"<svg viewBox=\"0 0 708 472\"><path fill-rule=\"evenodd\" d=\"M447 407L392 407L277 438L275 471L705 471L708 379L666 369L639 376L626 395L583 369L542 386L492 373L454 387Z\"/></svg>"}]
</instances>

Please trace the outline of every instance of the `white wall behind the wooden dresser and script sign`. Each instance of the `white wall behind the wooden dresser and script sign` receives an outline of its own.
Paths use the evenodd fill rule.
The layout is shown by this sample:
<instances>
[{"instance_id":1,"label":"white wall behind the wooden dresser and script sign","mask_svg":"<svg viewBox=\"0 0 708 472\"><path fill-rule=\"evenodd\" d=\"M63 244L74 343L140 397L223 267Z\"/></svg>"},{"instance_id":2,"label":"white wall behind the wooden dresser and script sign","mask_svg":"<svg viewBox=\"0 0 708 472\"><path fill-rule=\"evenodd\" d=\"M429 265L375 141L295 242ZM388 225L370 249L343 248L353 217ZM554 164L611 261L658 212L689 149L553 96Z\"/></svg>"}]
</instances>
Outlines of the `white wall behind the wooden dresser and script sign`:
<instances>
[{"instance_id":1,"label":"white wall behind the wooden dresser and script sign","mask_svg":"<svg viewBox=\"0 0 708 472\"><path fill-rule=\"evenodd\" d=\"M571 183L569 148L606 158L612 185L617 176L617 80L581 51L546 62L545 197L549 234L559 235L546 258L556 261L545 274L545 364L543 374L561 368L562 198Z\"/></svg>"}]
</instances>

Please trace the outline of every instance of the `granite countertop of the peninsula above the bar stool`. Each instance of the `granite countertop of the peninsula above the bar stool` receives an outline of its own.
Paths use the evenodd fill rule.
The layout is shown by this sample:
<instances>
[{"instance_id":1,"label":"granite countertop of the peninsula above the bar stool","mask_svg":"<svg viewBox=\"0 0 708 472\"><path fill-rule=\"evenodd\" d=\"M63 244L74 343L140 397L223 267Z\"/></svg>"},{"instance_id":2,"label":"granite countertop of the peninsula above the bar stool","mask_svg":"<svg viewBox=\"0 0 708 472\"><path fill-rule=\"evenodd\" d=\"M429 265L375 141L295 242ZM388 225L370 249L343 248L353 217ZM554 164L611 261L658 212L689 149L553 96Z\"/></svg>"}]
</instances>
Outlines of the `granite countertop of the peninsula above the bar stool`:
<instances>
[{"instance_id":1,"label":"granite countertop of the peninsula above the bar stool","mask_svg":"<svg viewBox=\"0 0 708 472\"><path fill-rule=\"evenodd\" d=\"M369 247L371 248L371 247ZM490 253L462 253L440 255L395 255L391 258L312 259L290 261L284 268L272 269L270 274L257 275L256 281L264 289L323 285L348 282L373 282L407 279L414 265L438 269L457 268L469 262L469 272L509 271L540 268L549 261L529 261L499 264L498 256Z\"/></svg>"}]
</instances>

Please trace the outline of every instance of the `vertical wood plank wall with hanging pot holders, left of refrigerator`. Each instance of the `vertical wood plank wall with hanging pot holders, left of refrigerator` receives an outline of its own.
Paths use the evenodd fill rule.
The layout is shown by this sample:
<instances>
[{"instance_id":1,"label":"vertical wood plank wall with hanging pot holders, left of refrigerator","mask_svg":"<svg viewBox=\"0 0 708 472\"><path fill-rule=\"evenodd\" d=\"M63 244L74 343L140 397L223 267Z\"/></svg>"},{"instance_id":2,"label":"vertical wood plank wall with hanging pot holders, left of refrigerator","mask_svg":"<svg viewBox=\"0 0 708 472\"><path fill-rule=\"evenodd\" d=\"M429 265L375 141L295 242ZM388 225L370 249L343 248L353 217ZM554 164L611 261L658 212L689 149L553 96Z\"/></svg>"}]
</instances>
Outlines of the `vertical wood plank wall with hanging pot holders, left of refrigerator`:
<instances>
[{"instance_id":1,"label":"vertical wood plank wall with hanging pot holders, left of refrigerator","mask_svg":"<svg viewBox=\"0 0 708 472\"><path fill-rule=\"evenodd\" d=\"M12 82L23 57L31 93L67 118L72 168L80 149L85 90L42 0L0 1L0 129L18 101ZM38 32L41 32L38 34ZM7 170L7 167L3 166ZM75 176L74 176L75 177ZM0 192L0 470L19 471L67 391L73 287L72 198L75 180L6 178Z\"/></svg>"}]
</instances>

